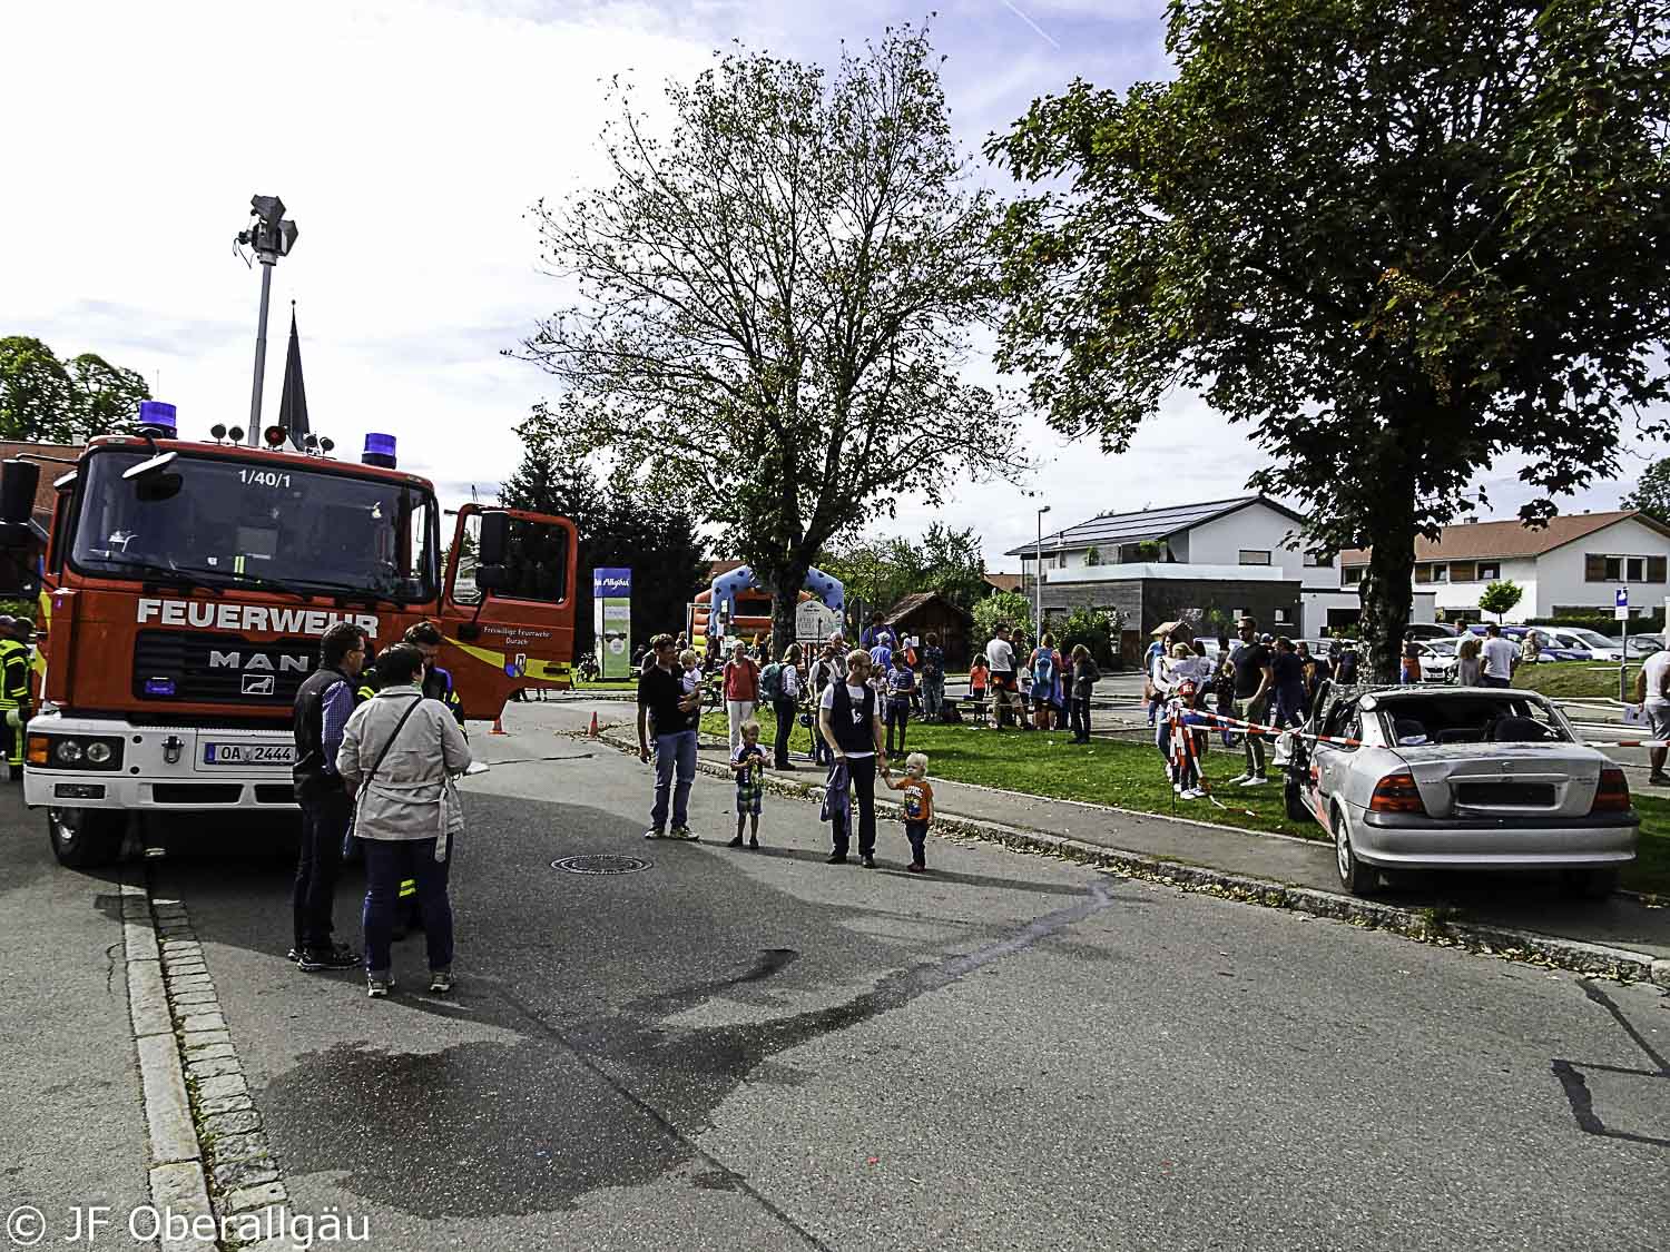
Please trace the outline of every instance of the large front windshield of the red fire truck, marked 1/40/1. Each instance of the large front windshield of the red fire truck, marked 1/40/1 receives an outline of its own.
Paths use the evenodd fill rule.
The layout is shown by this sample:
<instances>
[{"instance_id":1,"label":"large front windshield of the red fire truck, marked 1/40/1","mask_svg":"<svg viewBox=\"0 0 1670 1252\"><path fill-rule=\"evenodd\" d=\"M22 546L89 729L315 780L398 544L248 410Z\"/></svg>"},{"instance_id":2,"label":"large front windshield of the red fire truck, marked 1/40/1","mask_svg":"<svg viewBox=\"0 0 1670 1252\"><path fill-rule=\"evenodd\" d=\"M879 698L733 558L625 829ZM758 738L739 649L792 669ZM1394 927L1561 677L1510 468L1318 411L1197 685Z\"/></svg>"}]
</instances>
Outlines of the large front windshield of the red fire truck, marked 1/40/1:
<instances>
[{"instance_id":1,"label":"large front windshield of the red fire truck, marked 1/40/1","mask_svg":"<svg viewBox=\"0 0 1670 1252\"><path fill-rule=\"evenodd\" d=\"M77 484L70 561L114 578L174 573L401 603L436 594L434 497L416 486L294 464L182 454L139 482L145 449L95 452Z\"/></svg>"}]
</instances>

